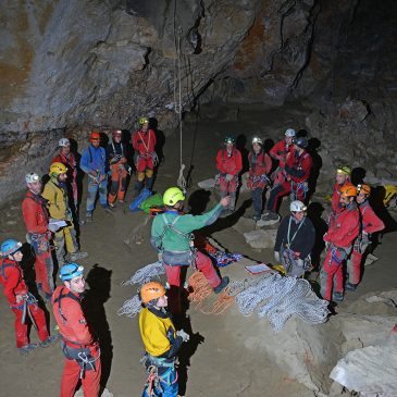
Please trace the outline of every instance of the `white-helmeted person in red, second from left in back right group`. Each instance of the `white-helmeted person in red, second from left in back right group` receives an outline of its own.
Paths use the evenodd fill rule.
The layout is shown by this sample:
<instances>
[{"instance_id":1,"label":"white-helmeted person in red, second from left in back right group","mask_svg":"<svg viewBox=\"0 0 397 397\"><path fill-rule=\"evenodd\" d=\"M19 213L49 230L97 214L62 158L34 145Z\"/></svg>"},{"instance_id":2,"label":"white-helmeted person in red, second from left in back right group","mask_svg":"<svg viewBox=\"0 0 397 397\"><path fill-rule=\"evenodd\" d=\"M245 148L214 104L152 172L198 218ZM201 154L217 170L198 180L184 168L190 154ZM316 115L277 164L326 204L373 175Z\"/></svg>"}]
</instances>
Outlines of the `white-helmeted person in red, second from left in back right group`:
<instances>
[{"instance_id":1,"label":"white-helmeted person in red, second from left in back right group","mask_svg":"<svg viewBox=\"0 0 397 397\"><path fill-rule=\"evenodd\" d=\"M252 139L252 151L248 153L249 177L248 188L251 190L253 204L253 221L259 221L262 216L263 190L269 185L268 174L272 169L272 159L263 151L261 138Z\"/></svg>"}]
</instances>

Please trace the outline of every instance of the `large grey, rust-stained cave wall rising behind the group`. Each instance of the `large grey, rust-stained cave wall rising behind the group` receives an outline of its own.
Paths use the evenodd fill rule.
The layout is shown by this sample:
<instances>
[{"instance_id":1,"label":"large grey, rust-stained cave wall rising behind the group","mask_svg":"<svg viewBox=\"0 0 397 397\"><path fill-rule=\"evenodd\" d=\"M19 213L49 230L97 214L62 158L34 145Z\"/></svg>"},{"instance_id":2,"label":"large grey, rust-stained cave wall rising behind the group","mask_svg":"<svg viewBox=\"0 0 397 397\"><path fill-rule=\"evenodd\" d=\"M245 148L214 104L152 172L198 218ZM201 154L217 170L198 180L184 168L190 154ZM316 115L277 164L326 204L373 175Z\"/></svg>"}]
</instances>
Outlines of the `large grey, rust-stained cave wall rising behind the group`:
<instances>
[{"instance_id":1,"label":"large grey, rust-stained cave wall rising behind the group","mask_svg":"<svg viewBox=\"0 0 397 397\"><path fill-rule=\"evenodd\" d=\"M394 7L392 0L382 4ZM393 136L394 58L387 67L379 60L394 49L387 47L394 25L379 9L385 40L365 23L374 14L369 0L3 1L0 202L23 188L27 169L47 169L65 132L82 140L91 127L131 129L141 114L156 116L162 129L174 127L179 80L184 111L198 101L282 106L305 99L313 110L307 128L323 134L330 153L324 164L351 159L364 142L336 156L326 140L340 133L334 114L343 136L351 125L364 125L381 141ZM393 156L375 177L393 179Z\"/></svg>"}]
</instances>

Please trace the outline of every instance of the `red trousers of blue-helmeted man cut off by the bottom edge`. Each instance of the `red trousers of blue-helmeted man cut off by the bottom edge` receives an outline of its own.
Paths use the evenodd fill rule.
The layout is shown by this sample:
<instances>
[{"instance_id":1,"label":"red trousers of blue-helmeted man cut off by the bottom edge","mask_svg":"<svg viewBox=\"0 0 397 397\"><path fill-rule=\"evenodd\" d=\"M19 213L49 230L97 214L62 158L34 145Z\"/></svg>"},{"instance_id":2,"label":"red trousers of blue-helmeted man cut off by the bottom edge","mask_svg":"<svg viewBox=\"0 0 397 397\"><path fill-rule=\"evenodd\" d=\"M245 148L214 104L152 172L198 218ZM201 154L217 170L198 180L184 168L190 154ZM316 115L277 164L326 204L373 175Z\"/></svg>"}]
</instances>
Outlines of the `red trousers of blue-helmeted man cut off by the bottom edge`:
<instances>
[{"instance_id":1,"label":"red trousers of blue-helmeted man cut off by the bottom edge","mask_svg":"<svg viewBox=\"0 0 397 397\"><path fill-rule=\"evenodd\" d=\"M98 357L99 351L96 348L91 349L94 358ZM82 379L84 397L98 397L101 380L101 360L95 361L95 371L85 371ZM61 397L73 397L77 382L79 380L80 367L75 360L65 359L61 381Z\"/></svg>"}]
</instances>

